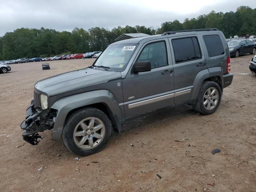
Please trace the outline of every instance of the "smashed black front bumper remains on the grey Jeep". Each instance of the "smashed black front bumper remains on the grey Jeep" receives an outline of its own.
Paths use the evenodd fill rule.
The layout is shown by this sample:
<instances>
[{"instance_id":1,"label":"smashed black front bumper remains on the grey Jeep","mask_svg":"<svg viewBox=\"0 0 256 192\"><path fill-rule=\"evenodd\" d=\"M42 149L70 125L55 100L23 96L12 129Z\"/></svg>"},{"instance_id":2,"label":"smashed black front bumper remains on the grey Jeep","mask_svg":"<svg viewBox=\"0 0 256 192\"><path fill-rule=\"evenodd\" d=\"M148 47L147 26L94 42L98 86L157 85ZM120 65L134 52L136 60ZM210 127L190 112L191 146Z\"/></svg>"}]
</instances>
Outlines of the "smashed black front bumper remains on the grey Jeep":
<instances>
[{"instance_id":1,"label":"smashed black front bumper remains on the grey Jeep","mask_svg":"<svg viewBox=\"0 0 256 192\"><path fill-rule=\"evenodd\" d=\"M34 100L32 100L26 109L26 119L20 124L20 128L25 130L22 134L23 139L32 145L37 145L38 139L42 139L38 132L52 129L55 119L55 113L35 107Z\"/></svg>"}]
</instances>

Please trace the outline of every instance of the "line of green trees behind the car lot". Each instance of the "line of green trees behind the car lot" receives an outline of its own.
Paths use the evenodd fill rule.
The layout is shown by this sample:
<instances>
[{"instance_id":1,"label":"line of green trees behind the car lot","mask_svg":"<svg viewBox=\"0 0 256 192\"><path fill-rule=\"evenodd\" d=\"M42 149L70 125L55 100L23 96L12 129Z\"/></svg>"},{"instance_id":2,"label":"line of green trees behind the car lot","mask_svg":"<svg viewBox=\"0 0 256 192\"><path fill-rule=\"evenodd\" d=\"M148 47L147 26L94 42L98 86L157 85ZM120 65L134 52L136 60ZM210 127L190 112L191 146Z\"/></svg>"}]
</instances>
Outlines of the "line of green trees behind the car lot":
<instances>
[{"instance_id":1,"label":"line of green trees behind the car lot","mask_svg":"<svg viewBox=\"0 0 256 192\"><path fill-rule=\"evenodd\" d=\"M86 53L104 50L124 33L161 34L166 31L218 28L226 38L256 34L256 9L240 6L236 12L215 12L178 20L164 22L160 28L145 26L125 26L107 30L105 28L74 28L72 32L53 29L20 28L0 37L0 60L54 56L65 53Z\"/></svg>"}]
</instances>

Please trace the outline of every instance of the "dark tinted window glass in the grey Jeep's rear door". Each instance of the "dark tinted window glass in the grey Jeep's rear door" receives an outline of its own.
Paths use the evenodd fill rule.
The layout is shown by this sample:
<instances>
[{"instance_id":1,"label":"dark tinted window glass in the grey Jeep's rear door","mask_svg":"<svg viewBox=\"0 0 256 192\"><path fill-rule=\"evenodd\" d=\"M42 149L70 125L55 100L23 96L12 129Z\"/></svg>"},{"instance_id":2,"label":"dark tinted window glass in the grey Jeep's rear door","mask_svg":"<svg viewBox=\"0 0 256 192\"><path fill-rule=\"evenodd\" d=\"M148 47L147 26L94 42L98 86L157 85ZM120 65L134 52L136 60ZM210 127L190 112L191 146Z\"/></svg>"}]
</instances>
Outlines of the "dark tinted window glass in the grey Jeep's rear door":
<instances>
[{"instance_id":1,"label":"dark tinted window glass in the grey Jeep's rear door","mask_svg":"<svg viewBox=\"0 0 256 192\"><path fill-rule=\"evenodd\" d=\"M185 62L202 58L196 37L172 40L175 62Z\"/></svg>"}]
</instances>

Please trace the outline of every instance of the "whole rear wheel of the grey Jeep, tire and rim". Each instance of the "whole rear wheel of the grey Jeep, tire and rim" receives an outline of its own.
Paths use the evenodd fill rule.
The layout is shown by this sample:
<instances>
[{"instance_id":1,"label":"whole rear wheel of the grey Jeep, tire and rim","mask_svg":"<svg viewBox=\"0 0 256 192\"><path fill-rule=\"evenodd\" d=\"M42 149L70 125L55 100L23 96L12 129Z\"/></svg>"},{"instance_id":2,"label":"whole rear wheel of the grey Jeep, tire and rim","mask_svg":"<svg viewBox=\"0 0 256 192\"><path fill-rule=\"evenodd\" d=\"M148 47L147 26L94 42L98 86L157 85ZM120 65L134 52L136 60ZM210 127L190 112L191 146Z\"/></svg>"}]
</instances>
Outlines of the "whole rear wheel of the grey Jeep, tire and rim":
<instances>
[{"instance_id":1,"label":"whole rear wheel of the grey Jeep, tire and rim","mask_svg":"<svg viewBox=\"0 0 256 192\"><path fill-rule=\"evenodd\" d=\"M220 105L221 96L220 86L216 82L203 82L194 105L194 110L203 115L214 113Z\"/></svg>"}]
</instances>

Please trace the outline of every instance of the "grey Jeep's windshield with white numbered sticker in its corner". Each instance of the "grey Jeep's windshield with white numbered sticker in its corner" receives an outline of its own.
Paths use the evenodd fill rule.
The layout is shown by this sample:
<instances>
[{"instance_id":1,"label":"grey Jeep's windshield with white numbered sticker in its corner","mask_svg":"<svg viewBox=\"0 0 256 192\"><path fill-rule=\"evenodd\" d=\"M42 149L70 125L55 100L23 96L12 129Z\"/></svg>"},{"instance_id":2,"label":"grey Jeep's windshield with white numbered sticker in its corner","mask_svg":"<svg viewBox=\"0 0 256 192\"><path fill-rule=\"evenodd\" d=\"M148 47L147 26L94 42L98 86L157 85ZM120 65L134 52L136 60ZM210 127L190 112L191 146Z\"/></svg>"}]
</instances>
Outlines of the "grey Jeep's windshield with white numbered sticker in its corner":
<instances>
[{"instance_id":1,"label":"grey Jeep's windshield with white numbered sticker in its corner","mask_svg":"<svg viewBox=\"0 0 256 192\"><path fill-rule=\"evenodd\" d=\"M129 62L137 44L110 45L100 54L94 66L109 67L110 70L123 71Z\"/></svg>"}]
</instances>

